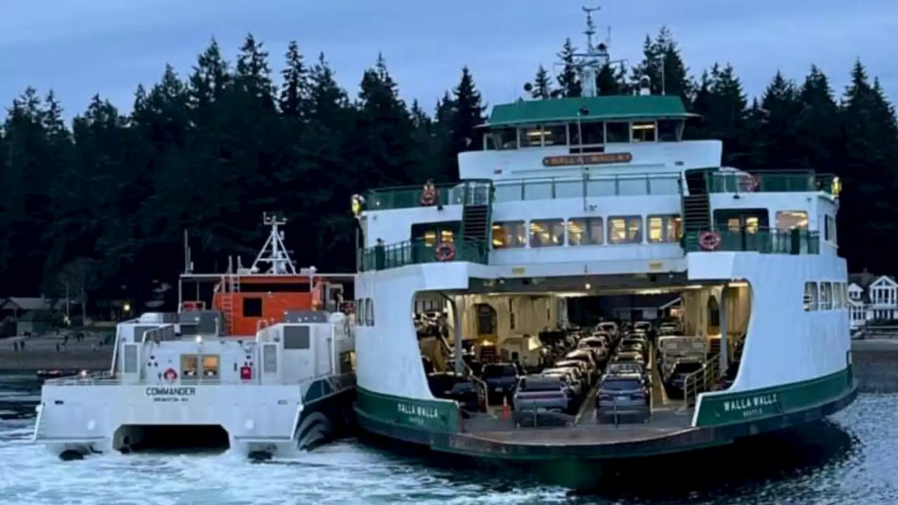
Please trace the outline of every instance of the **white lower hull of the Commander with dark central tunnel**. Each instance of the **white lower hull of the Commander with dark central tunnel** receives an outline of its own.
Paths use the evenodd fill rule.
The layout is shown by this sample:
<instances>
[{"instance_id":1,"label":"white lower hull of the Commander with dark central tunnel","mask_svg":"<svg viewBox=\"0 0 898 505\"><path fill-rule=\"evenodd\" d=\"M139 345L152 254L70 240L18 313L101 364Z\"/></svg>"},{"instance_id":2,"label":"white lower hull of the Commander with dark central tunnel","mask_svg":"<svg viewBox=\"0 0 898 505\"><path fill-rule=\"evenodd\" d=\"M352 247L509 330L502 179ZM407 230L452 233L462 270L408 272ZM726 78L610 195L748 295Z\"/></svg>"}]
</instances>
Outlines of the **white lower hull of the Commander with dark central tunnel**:
<instances>
[{"instance_id":1,"label":"white lower hull of the Commander with dark central tunnel","mask_svg":"<svg viewBox=\"0 0 898 505\"><path fill-rule=\"evenodd\" d=\"M140 447L145 428L220 427L229 450L270 457L317 447L343 434L355 376L308 385L121 385L115 379L48 381L34 441L64 459Z\"/></svg>"}]
</instances>

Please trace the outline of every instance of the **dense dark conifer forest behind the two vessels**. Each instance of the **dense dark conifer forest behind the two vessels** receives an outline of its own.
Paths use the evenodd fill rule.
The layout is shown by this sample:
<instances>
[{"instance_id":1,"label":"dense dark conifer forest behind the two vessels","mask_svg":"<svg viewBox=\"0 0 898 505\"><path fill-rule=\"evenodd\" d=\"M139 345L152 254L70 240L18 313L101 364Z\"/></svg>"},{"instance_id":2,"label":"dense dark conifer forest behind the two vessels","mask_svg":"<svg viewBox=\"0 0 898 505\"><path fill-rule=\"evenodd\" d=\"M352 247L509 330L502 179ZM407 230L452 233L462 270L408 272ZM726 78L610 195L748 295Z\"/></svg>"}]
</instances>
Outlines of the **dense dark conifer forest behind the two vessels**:
<instances>
[{"instance_id":1,"label":"dense dark conifer forest behind the two vessels","mask_svg":"<svg viewBox=\"0 0 898 505\"><path fill-rule=\"evenodd\" d=\"M859 61L844 90L809 62L806 76L778 73L752 98L732 66L691 72L666 30L643 49L638 65L603 71L603 93L626 92L638 75L658 93L664 66L665 92L703 116L688 137L722 139L724 163L744 170L841 176L850 269L895 273L898 127ZM568 40L558 56L571 62L575 50ZM295 42L280 75L271 58L248 36L228 62L213 41L189 73L168 66L158 84L138 86L130 113L96 95L71 124L52 91L25 90L0 129L0 295L62 297L67 284L92 310L148 300L182 270L185 228L196 270L222 271L229 254L257 253L265 211L290 219L298 263L349 271L352 194L456 180L455 156L480 148L472 129L488 111L468 68L435 106L403 102L383 58L351 91L324 55L306 57ZM532 82L538 99L579 93L570 66L540 67Z\"/></svg>"}]
</instances>

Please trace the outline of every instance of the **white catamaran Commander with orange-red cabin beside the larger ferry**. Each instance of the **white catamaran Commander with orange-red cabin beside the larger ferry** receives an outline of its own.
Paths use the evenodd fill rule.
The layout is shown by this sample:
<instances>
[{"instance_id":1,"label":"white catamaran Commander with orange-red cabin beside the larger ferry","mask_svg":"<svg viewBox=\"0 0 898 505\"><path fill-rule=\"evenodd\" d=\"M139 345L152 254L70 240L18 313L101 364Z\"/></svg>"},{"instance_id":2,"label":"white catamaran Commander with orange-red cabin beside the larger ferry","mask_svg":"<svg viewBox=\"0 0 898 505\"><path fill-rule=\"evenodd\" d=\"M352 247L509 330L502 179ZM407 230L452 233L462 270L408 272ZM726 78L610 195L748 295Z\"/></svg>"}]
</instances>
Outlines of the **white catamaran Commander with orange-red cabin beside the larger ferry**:
<instances>
[{"instance_id":1,"label":"white catamaran Commander with orange-red cabin beside the larger ferry","mask_svg":"<svg viewBox=\"0 0 898 505\"><path fill-rule=\"evenodd\" d=\"M355 323L340 312L351 312L340 280L352 276L297 271L286 220L264 224L269 237L249 269L238 257L224 274L195 273L185 247L180 310L119 323L109 372L48 380L34 440L64 459L159 447L268 458L346 427Z\"/></svg>"}]
</instances>

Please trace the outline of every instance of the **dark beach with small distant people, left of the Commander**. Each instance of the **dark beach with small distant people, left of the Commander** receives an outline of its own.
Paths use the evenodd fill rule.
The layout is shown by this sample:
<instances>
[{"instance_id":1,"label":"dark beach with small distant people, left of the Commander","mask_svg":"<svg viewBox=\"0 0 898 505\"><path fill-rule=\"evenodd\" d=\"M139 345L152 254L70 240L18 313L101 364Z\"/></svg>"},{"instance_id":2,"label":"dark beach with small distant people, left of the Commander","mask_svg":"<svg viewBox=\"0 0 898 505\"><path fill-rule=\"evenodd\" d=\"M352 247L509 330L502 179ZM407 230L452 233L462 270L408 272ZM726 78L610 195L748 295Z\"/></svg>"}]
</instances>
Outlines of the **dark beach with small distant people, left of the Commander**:
<instances>
[{"instance_id":1,"label":"dark beach with small distant people, left of the Commander","mask_svg":"<svg viewBox=\"0 0 898 505\"><path fill-rule=\"evenodd\" d=\"M102 346L101 341L99 333L85 333L84 341L75 341L70 337L67 343L63 343L61 336L56 335L2 339L0 370L108 369L112 362L113 346ZM14 350L15 344L22 343L22 349Z\"/></svg>"}]
</instances>

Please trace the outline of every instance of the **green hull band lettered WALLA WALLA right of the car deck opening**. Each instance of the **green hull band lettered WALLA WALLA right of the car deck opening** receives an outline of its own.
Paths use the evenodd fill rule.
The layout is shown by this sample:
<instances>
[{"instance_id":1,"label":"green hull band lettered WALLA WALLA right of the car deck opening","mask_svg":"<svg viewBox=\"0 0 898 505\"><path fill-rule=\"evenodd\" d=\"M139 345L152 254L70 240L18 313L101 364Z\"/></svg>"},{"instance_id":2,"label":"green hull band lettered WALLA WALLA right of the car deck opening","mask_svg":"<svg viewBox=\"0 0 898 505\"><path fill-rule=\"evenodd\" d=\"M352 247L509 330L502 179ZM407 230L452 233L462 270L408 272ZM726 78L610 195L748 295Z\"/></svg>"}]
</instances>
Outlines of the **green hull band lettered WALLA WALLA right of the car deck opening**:
<instances>
[{"instance_id":1,"label":"green hull band lettered WALLA WALLA right of the car deck opening","mask_svg":"<svg viewBox=\"0 0 898 505\"><path fill-rule=\"evenodd\" d=\"M697 426L706 428L800 412L831 402L850 391L851 367L803 382L745 392L703 396Z\"/></svg>"}]
</instances>

